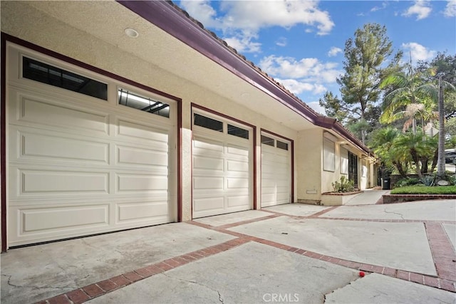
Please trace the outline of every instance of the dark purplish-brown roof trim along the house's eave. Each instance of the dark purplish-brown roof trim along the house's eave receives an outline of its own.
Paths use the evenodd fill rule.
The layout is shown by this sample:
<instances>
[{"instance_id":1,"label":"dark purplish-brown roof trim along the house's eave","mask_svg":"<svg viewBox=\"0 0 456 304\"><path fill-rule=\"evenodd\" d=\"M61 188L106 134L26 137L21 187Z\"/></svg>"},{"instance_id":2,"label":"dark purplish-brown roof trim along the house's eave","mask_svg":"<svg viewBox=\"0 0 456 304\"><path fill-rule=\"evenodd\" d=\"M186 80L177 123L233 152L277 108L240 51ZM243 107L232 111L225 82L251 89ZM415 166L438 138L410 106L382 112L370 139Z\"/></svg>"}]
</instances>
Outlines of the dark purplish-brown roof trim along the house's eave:
<instances>
[{"instance_id":1,"label":"dark purplish-brown roof trim along the house's eave","mask_svg":"<svg viewBox=\"0 0 456 304\"><path fill-rule=\"evenodd\" d=\"M286 105L286 107L298 112L299 115L314 125L332 129L339 135L346 137L350 142L353 142L361 150L366 153L370 152L368 147L363 145L335 119L320 115L312 110L306 103L299 100L282 85L276 83L273 78L262 72L254 63L247 61L234 48L229 47L227 43L217 38L214 33L204 29L201 23L191 19L185 11L179 9L171 1L118 0L118 3L194 48L212 61L222 65L239 78Z\"/></svg>"}]
</instances>

